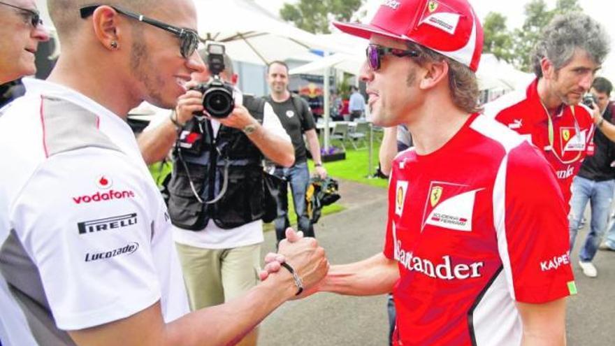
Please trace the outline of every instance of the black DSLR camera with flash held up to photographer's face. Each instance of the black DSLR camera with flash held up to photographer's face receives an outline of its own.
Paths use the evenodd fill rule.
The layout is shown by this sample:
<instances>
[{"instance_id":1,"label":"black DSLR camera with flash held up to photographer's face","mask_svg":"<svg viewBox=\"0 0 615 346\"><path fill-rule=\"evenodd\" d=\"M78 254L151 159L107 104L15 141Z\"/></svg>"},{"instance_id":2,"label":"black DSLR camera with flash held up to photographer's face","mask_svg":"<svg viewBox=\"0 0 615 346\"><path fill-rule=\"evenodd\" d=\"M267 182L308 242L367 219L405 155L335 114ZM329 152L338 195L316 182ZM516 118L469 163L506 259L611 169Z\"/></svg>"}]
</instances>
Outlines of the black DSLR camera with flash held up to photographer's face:
<instances>
[{"instance_id":1,"label":"black DSLR camera with flash held up to photographer's face","mask_svg":"<svg viewBox=\"0 0 615 346\"><path fill-rule=\"evenodd\" d=\"M206 50L207 66L212 77L193 89L203 94L205 111L212 117L222 119L228 117L235 108L235 88L220 78L220 73L224 71L224 45L208 43Z\"/></svg>"}]
</instances>

